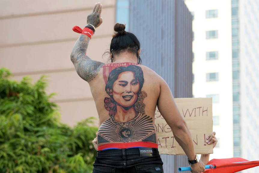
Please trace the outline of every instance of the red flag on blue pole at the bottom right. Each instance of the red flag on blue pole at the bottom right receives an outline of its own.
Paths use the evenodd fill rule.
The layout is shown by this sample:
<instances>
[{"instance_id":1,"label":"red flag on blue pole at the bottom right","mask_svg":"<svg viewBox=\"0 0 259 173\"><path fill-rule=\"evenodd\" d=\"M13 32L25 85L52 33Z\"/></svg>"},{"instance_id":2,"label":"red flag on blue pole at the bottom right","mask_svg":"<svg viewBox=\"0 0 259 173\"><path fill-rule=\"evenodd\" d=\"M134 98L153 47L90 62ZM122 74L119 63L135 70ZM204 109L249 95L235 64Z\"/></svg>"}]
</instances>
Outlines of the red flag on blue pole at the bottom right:
<instances>
[{"instance_id":1,"label":"red flag on blue pole at the bottom right","mask_svg":"<svg viewBox=\"0 0 259 173\"><path fill-rule=\"evenodd\" d=\"M249 161L239 157L228 159L212 159L207 165L215 165L214 169L206 169L203 173L234 173L259 166L258 161Z\"/></svg>"}]
</instances>

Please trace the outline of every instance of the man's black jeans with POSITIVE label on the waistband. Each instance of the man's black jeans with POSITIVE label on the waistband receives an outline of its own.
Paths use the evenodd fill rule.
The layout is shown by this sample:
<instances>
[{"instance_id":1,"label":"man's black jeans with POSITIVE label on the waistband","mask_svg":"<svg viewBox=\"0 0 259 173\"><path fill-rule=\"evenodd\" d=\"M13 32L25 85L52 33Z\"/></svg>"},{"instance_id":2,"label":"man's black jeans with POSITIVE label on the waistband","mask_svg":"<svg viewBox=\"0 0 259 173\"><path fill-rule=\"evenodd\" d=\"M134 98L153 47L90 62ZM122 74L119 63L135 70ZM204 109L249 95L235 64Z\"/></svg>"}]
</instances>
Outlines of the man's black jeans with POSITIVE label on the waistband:
<instances>
[{"instance_id":1,"label":"man's black jeans with POSITIVE label on the waistband","mask_svg":"<svg viewBox=\"0 0 259 173\"><path fill-rule=\"evenodd\" d=\"M97 151L93 173L163 173L157 148Z\"/></svg>"}]
</instances>

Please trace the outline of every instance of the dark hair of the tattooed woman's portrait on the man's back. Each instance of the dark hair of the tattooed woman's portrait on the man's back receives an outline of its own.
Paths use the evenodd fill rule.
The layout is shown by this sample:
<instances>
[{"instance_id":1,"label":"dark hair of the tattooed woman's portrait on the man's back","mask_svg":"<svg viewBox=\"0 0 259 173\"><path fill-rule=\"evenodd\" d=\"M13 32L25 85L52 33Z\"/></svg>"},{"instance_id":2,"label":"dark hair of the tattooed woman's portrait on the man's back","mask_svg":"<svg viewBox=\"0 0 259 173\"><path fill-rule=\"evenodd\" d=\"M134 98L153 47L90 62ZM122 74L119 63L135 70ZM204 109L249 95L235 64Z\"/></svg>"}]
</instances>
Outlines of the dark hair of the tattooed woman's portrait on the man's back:
<instances>
[{"instance_id":1,"label":"dark hair of the tattooed woman's portrait on the man's back","mask_svg":"<svg viewBox=\"0 0 259 173\"><path fill-rule=\"evenodd\" d=\"M137 79L139 82L139 94L141 92L141 89L144 84L144 76L143 76L143 71L141 67L135 66L135 65L130 65L127 67L117 67L116 69L112 70L111 73L109 74L108 81L105 86L105 91L107 94L109 94L108 89L112 89L114 82L118 79L118 76L122 72L127 72L131 71L134 73L134 77ZM111 94L109 94L111 96ZM111 96L112 97L112 96Z\"/></svg>"}]
</instances>

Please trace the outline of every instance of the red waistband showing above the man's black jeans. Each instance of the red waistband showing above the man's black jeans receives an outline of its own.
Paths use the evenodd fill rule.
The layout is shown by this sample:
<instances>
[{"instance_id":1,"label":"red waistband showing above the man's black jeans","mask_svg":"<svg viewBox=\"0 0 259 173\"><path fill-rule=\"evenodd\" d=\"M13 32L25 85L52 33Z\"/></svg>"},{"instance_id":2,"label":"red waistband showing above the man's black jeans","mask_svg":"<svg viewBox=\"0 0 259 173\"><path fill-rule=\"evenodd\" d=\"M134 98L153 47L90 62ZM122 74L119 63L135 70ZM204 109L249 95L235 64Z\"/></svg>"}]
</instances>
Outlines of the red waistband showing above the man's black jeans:
<instances>
[{"instance_id":1,"label":"red waistband showing above the man's black jeans","mask_svg":"<svg viewBox=\"0 0 259 173\"><path fill-rule=\"evenodd\" d=\"M148 148L158 148L158 144L153 142L127 142L127 143L111 143L111 144L103 144L98 146L98 150L104 150L106 148L131 148L131 147L148 147Z\"/></svg>"}]
</instances>

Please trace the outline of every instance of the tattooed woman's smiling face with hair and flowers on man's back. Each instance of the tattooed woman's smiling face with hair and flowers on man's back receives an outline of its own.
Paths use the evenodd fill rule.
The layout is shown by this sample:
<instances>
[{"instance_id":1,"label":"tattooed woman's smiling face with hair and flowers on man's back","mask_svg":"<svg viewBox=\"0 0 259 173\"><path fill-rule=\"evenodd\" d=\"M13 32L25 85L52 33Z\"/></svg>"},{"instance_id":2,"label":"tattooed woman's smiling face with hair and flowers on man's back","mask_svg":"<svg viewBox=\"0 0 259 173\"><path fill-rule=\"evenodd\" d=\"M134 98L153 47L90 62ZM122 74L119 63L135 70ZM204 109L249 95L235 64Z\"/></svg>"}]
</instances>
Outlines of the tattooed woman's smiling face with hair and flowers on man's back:
<instances>
[{"instance_id":1,"label":"tattooed woman's smiling face with hair and flowers on man's back","mask_svg":"<svg viewBox=\"0 0 259 173\"><path fill-rule=\"evenodd\" d=\"M115 115L118 106L124 110L133 107L136 113L144 113L143 100L147 94L145 91L141 91L143 84L143 72L139 66L130 65L112 70L105 87L110 98L106 97L104 100L105 109L109 111L109 115Z\"/></svg>"}]
</instances>

